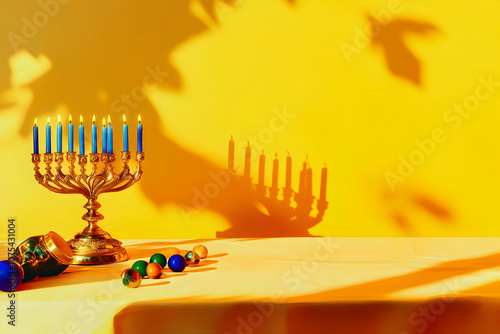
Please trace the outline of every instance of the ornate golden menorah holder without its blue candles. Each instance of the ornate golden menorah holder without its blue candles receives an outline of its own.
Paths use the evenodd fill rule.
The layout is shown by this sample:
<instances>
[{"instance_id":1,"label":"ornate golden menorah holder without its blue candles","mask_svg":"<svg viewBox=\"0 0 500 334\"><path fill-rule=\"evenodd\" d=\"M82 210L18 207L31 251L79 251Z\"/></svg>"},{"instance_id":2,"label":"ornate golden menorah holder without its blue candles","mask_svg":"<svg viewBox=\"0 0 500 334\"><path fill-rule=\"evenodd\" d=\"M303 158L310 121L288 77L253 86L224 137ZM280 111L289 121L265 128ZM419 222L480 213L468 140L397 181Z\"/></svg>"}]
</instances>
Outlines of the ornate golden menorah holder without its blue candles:
<instances>
[{"instance_id":1,"label":"ornate golden menorah holder without its blue candles","mask_svg":"<svg viewBox=\"0 0 500 334\"><path fill-rule=\"evenodd\" d=\"M142 162L144 152L136 153L137 169L130 172L130 151L121 152L123 167L120 173L114 172L114 153L90 153L77 155L75 152L66 153L69 172L62 171L64 153L45 153L45 174L40 172L39 164L42 154L32 154L35 165L35 179L45 188L60 194L82 194L87 198L84 208L87 209L82 217L87 222L87 227L78 233L74 239L68 241L73 249L73 264L104 264L126 261L129 259L127 251L121 242L113 239L111 235L98 226L104 216L98 212L101 204L97 200L100 194L117 192L127 189L139 181L142 176ZM75 163L78 159L80 173L75 172ZM55 172L52 172L52 162L55 161ZM90 162L91 170L86 172L87 163ZM102 162L102 169L99 163Z\"/></svg>"}]
</instances>

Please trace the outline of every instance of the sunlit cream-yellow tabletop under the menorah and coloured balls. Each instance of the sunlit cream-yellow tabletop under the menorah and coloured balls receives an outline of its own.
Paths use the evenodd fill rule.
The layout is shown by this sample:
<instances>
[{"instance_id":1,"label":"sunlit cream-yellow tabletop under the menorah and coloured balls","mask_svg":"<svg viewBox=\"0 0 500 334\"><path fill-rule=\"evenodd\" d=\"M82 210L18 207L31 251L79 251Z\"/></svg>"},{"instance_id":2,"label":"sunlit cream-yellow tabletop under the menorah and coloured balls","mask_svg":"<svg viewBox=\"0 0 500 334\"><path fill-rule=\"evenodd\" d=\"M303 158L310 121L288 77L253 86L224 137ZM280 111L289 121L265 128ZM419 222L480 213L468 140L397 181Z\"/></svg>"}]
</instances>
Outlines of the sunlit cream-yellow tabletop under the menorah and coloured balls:
<instances>
[{"instance_id":1,"label":"sunlit cream-yellow tabletop under the menorah and coloured balls","mask_svg":"<svg viewBox=\"0 0 500 334\"><path fill-rule=\"evenodd\" d=\"M131 258L127 262L70 266L57 277L36 278L21 284L16 297L16 329L37 333L110 333L113 329L127 332L123 324L137 326L138 321L151 323L157 317L157 321L164 321L167 309L161 307L172 305L177 313L169 308L169 314L200 321L215 321L221 314L238 320L236 313L231 313L235 305L247 305L240 310L243 313L237 314L250 317L253 312L250 306L266 317L267 311L280 309L276 318L283 313L287 326L291 326L293 310L285 310L283 305L400 303L410 310L415 303L436 298L448 303L469 298L492 302L500 297L499 238L196 239L124 240L123 243ZM198 266L188 267L182 273L165 270L161 279L144 279L137 289L122 285L120 274L134 261L148 261L152 254L166 247L186 251L196 244L204 244L209 250L209 256ZM5 243L0 244L0 252L6 254ZM7 303L7 294L2 293L1 305ZM193 309L194 306L199 309ZM487 308L483 305L483 309ZM144 310L147 312L141 313ZM193 310L204 315L189 315ZM392 332L410 333L412 328L419 328L411 325L407 313L398 324L400 327L394 327ZM142 318L136 321L134 314ZM280 323L278 319L261 325L259 317L247 320L251 327L258 325L254 333L269 332L273 324ZM406 329L408 322L410 329ZM248 323L242 325L241 321L229 327L219 322L214 326L218 330L213 332L221 328L224 329L221 332L231 332L227 330L230 326L242 333L245 328L249 332ZM4 333L5 329L12 330L2 320L0 331ZM189 333L187 329L185 332Z\"/></svg>"}]
</instances>

